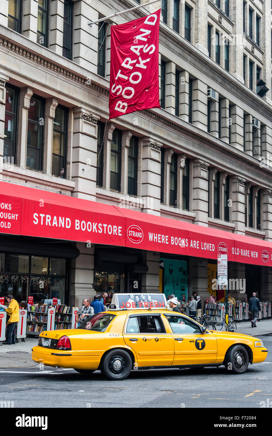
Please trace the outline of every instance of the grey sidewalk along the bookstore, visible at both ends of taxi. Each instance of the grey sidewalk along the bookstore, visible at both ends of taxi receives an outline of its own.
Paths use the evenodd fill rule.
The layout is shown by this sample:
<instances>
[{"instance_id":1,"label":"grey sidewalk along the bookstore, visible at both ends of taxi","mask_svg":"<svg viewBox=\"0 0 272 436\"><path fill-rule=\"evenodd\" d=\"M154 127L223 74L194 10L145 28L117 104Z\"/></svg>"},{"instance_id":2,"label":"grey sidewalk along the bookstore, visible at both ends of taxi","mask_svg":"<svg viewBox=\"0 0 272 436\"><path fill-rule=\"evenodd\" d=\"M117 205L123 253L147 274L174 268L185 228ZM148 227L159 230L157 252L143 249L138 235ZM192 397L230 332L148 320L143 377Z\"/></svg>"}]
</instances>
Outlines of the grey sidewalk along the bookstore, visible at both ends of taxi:
<instances>
[{"instance_id":1,"label":"grey sidewalk along the bookstore, visible at both ends of taxi","mask_svg":"<svg viewBox=\"0 0 272 436\"><path fill-rule=\"evenodd\" d=\"M251 321L242 321L237 323L237 333L250 336L272 334L272 319L258 321L256 328L251 327ZM38 364L31 358L31 348L37 343L37 338L26 337L25 342L19 340L15 345L0 346L0 371L7 368L38 368Z\"/></svg>"}]
</instances>

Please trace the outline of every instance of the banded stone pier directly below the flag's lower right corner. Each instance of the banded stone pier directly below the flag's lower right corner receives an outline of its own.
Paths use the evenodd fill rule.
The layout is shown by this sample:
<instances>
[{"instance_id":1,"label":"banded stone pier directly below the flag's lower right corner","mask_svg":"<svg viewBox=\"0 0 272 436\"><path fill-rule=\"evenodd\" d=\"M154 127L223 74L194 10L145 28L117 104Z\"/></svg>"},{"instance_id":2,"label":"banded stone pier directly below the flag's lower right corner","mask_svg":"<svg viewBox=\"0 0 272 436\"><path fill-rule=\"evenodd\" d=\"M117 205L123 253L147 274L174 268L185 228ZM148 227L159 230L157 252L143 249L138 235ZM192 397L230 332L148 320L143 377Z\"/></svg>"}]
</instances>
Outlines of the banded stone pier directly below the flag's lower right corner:
<instances>
[{"instance_id":1,"label":"banded stone pier directly below the flag's lower right corner","mask_svg":"<svg viewBox=\"0 0 272 436\"><path fill-rule=\"evenodd\" d=\"M142 139L142 212L160 215L160 147L151 138Z\"/></svg>"}]
</instances>

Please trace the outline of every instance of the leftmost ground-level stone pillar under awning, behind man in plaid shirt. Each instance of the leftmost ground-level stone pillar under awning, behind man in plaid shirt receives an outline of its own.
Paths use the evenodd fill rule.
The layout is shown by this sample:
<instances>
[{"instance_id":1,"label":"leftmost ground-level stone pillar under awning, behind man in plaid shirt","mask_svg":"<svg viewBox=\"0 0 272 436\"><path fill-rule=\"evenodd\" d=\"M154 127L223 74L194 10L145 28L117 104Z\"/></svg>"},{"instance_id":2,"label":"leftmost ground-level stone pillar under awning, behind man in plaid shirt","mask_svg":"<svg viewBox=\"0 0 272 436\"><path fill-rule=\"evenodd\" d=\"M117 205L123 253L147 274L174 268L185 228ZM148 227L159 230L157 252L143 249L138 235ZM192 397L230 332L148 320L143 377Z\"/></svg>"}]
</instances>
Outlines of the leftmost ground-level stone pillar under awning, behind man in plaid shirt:
<instances>
[{"instance_id":1,"label":"leftmost ground-level stone pillar under awning, behind man in plaid shirt","mask_svg":"<svg viewBox=\"0 0 272 436\"><path fill-rule=\"evenodd\" d=\"M93 246L87 248L84 242L77 242L76 246L80 255L71 260L70 303L79 308L82 307L85 298L95 295L93 288L95 249Z\"/></svg>"}]
</instances>

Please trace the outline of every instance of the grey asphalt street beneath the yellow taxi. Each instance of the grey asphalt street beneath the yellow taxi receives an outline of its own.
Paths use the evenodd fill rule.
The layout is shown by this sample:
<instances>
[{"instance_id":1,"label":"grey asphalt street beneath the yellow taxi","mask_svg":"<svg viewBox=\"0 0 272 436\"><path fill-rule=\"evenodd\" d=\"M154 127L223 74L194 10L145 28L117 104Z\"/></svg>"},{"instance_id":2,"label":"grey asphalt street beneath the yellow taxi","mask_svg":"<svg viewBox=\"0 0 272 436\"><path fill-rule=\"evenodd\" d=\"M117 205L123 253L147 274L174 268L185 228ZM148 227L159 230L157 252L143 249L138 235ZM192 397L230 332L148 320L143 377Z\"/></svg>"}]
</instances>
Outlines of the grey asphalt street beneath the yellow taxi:
<instances>
[{"instance_id":1,"label":"grey asphalt street beneath the yellow taxi","mask_svg":"<svg viewBox=\"0 0 272 436\"><path fill-rule=\"evenodd\" d=\"M260 339L268 357L242 375L222 366L132 371L126 380L110 381L100 371L81 375L38 365L0 369L0 401L13 401L14 408L260 408L269 401L271 407L272 336Z\"/></svg>"}]
</instances>

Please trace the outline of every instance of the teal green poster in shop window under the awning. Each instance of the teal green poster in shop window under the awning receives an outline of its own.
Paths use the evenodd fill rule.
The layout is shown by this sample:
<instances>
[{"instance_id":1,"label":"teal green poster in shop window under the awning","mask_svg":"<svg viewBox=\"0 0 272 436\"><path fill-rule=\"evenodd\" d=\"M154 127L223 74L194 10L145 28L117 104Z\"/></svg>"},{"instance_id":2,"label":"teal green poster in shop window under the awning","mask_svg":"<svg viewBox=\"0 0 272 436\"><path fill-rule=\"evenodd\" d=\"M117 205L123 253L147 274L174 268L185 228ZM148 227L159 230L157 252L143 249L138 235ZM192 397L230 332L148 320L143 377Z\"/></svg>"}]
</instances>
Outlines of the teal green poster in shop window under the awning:
<instances>
[{"instance_id":1,"label":"teal green poster in shop window under the awning","mask_svg":"<svg viewBox=\"0 0 272 436\"><path fill-rule=\"evenodd\" d=\"M168 296L175 294L178 300L188 297L188 264L187 260L160 259L163 268L163 290Z\"/></svg>"}]
</instances>

